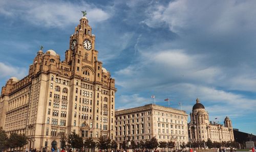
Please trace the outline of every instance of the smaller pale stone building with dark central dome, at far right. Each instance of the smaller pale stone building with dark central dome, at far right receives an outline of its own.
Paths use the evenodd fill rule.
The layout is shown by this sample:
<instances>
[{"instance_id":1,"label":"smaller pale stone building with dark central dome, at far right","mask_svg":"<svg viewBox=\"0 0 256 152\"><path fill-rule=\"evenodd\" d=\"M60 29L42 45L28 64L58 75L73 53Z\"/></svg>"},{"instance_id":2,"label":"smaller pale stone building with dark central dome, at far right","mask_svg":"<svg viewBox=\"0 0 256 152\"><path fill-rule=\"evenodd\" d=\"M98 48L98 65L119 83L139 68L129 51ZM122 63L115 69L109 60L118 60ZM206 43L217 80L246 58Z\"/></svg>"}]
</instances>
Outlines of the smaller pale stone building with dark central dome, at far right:
<instances>
[{"instance_id":1,"label":"smaller pale stone building with dark central dome, at far right","mask_svg":"<svg viewBox=\"0 0 256 152\"><path fill-rule=\"evenodd\" d=\"M192 113L190 113L190 122L188 123L188 136L191 141L233 141L233 128L231 120L226 117L224 125L219 123L212 123L209 121L209 114L205 110L197 98L196 104L193 106Z\"/></svg>"}]
</instances>

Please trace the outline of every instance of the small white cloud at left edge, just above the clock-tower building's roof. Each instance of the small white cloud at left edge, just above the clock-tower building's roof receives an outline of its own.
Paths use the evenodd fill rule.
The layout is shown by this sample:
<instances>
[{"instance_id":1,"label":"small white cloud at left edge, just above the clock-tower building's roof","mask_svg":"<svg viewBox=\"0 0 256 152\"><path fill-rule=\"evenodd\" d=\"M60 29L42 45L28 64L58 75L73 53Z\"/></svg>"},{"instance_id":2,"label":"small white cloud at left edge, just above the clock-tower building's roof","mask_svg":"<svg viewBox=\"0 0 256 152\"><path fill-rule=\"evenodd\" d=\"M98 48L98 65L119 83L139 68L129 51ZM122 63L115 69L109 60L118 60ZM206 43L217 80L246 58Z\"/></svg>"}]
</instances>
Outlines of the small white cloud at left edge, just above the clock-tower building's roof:
<instances>
[{"instance_id":1,"label":"small white cloud at left edge, just above the clock-tower building's roof","mask_svg":"<svg viewBox=\"0 0 256 152\"><path fill-rule=\"evenodd\" d=\"M9 79L11 77L17 77L18 79L22 79L27 75L27 68L15 67L12 65L7 65L5 63L0 62L0 78L1 79Z\"/></svg>"}]
</instances>

